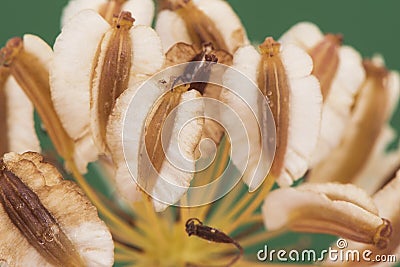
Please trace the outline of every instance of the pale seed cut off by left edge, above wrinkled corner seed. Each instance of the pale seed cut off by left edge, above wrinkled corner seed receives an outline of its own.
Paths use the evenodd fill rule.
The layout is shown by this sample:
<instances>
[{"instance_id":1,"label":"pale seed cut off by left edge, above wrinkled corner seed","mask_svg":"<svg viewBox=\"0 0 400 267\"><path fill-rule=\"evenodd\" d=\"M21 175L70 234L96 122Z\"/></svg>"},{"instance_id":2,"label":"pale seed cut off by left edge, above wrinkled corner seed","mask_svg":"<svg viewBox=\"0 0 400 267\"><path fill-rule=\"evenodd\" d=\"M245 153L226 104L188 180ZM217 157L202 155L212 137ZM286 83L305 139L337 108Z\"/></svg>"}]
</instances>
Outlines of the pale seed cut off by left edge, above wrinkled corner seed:
<instances>
[{"instance_id":1,"label":"pale seed cut off by left edge, above wrinkled corner seed","mask_svg":"<svg viewBox=\"0 0 400 267\"><path fill-rule=\"evenodd\" d=\"M0 154L40 151L33 120L33 105L7 67L0 66Z\"/></svg>"}]
</instances>

